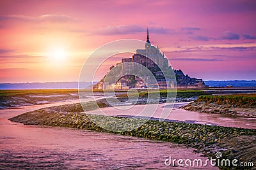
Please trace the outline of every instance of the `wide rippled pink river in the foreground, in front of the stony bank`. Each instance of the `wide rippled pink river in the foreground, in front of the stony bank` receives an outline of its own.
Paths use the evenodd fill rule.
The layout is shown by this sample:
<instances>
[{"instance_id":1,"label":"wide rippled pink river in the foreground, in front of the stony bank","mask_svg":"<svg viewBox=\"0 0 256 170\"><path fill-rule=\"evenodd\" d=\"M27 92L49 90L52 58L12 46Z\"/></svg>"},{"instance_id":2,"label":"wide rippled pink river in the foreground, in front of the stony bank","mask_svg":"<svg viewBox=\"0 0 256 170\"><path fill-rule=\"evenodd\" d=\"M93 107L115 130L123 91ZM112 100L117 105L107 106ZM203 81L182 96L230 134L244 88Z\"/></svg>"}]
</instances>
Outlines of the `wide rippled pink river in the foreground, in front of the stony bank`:
<instances>
[{"instance_id":1,"label":"wide rippled pink river in the foreground, in front of the stony bank","mask_svg":"<svg viewBox=\"0 0 256 170\"><path fill-rule=\"evenodd\" d=\"M188 169L173 159L207 159L184 145L79 129L23 125L8 120L52 103L0 110L0 169ZM78 102L78 101L76 101ZM193 166L189 169L218 169Z\"/></svg>"}]
</instances>

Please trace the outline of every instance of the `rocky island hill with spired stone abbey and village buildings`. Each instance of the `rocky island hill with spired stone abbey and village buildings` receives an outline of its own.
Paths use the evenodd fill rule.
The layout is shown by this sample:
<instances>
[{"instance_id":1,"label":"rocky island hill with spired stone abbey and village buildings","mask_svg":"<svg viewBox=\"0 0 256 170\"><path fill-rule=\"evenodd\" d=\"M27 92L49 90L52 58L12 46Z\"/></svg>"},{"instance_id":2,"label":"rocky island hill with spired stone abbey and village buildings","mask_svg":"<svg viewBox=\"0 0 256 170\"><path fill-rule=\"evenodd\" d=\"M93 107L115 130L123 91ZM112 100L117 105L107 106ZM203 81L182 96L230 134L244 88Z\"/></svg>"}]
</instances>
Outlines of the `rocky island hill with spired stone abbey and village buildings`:
<instances>
[{"instance_id":1,"label":"rocky island hill with spired stone abbey and village buildings","mask_svg":"<svg viewBox=\"0 0 256 170\"><path fill-rule=\"evenodd\" d=\"M171 78L168 75L172 74L172 67L169 66L168 59L164 57L164 53L160 51L158 46L151 45L149 41L148 29L147 29L147 40L145 42L144 49L137 49L131 58L122 59L122 63L127 64L129 67L122 66L122 72L127 73L133 68L133 63L141 64L151 71L157 80L157 84L150 85L150 88L159 87L160 89L167 89L168 87L174 87ZM131 64L130 64L131 63ZM124 65L124 64L123 64ZM115 66L111 66L109 71ZM175 79L177 88L204 88L205 84L202 79L191 78L188 74L184 74L180 69L173 69L175 73ZM116 73L119 74L119 73ZM167 77L166 77L167 75ZM173 75L174 77L174 75ZM126 75L120 78L116 82L108 83L104 82L104 79L99 81L93 86L93 89L115 89L115 90L127 90L131 88L148 88L140 78L137 76Z\"/></svg>"}]
</instances>

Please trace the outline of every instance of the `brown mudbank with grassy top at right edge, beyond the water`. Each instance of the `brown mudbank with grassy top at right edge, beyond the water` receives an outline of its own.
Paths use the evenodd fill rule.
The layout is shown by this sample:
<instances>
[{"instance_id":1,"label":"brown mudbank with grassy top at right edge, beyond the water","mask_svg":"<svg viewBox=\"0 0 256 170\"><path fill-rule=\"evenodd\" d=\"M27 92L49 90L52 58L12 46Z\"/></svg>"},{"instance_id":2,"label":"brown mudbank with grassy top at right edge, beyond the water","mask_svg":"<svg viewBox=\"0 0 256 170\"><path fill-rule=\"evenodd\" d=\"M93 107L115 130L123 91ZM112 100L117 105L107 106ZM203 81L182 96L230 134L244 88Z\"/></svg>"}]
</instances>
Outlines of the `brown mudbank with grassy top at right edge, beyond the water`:
<instances>
[{"instance_id":1,"label":"brown mudbank with grassy top at right edge, beyond the water","mask_svg":"<svg viewBox=\"0 0 256 170\"><path fill-rule=\"evenodd\" d=\"M256 94L199 96L183 108L189 111L255 118Z\"/></svg>"}]
</instances>

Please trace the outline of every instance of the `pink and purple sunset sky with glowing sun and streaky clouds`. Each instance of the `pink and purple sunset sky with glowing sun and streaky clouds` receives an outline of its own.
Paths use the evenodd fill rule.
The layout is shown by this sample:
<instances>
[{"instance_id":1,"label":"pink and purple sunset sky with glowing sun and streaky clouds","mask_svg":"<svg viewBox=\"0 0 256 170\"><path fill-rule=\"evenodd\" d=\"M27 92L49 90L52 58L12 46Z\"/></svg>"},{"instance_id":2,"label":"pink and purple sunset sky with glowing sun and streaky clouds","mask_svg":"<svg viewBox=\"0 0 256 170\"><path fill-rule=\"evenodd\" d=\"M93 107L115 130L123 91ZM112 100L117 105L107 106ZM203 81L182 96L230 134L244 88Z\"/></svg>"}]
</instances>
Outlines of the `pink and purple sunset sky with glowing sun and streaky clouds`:
<instances>
[{"instance_id":1,"label":"pink and purple sunset sky with glowing sun and streaky clouds","mask_svg":"<svg viewBox=\"0 0 256 170\"><path fill-rule=\"evenodd\" d=\"M151 43L189 76L256 80L254 0L1 0L0 83L77 81L93 50L145 41L147 27Z\"/></svg>"}]
</instances>

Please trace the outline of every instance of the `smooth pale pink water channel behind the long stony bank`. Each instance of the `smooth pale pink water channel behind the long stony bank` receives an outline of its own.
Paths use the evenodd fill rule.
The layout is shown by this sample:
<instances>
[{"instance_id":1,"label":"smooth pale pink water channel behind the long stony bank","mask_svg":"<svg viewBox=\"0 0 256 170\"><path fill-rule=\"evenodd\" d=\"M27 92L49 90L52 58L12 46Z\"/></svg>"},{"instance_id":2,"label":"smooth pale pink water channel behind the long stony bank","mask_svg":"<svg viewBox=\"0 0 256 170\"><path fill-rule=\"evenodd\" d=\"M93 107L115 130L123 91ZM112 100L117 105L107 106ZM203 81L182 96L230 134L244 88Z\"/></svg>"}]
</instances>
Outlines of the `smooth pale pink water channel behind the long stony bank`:
<instances>
[{"instance_id":1,"label":"smooth pale pink water channel behind the long stony bank","mask_svg":"<svg viewBox=\"0 0 256 170\"><path fill-rule=\"evenodd\" d=\"M178 106L188 103L175 103L172 109L172 104L167 104L165 110L169 113L166 116L168 120L178 120L188 123L196 124L208 124L208 125L221 125L226 127L242 127L248 129L256 129L256 118L246 117L232 117L229 115L211 114L211 113L199 113L195 111L187 111L178 108ZM165 104L150 104L152 108L157 106L157 110L148 113L148 117L159 118L163 111ZM168 107L169 106L169 107ZM87 111L86 113L114 115L114 116L136 116L145 109L145 105L134 105L127 110L127 106L118 106L118 108L100 108L99 110Z\"/></svg>"}]
</instances>

